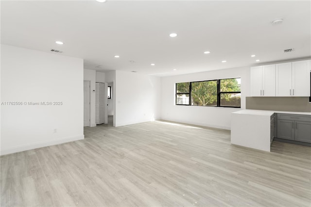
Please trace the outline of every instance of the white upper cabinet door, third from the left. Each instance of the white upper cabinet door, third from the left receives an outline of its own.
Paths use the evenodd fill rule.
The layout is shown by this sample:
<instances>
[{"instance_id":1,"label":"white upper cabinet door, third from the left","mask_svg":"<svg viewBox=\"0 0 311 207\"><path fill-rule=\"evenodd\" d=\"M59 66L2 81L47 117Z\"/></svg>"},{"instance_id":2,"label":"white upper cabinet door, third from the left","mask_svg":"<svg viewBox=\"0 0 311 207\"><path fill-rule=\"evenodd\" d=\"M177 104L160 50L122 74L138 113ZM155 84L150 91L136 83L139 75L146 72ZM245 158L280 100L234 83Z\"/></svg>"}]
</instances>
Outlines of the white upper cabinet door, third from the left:
<instances>
[{"instance_id":1,"label":"white upper cabinet door, third from the left","mask_svg":"<svg viewBox=\"0 0 311 207\"><path fill-rule=\"evenodd\" d=\"M292 63L276 64L276 96L292 94Z\"/></svg>"}]
</instances>

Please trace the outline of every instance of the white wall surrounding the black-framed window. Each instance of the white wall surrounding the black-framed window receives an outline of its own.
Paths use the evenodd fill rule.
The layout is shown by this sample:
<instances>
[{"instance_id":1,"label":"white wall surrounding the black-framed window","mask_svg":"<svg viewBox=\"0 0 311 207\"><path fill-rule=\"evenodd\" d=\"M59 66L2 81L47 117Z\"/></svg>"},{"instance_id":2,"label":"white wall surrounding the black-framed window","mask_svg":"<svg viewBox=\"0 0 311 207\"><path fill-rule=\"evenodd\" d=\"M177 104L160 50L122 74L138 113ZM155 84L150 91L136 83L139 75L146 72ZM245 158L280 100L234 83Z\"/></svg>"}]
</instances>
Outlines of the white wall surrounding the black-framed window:
<instances>
[{"instance_id":1,"label":"white wall surrounding the black-framed window","mask_svg":"<svg viewBox=\"0 0 311 207\"><path fill-rule=\"evenodd\" d=\"M231 113L241 109L209 106L175 105L175 83L205 81L241 77L241 109L245 109L245 97L249 96L249 67L213 70L178 76L162 77L161 118L201 126L230 129Z\"/></svg>"}]
</instances>

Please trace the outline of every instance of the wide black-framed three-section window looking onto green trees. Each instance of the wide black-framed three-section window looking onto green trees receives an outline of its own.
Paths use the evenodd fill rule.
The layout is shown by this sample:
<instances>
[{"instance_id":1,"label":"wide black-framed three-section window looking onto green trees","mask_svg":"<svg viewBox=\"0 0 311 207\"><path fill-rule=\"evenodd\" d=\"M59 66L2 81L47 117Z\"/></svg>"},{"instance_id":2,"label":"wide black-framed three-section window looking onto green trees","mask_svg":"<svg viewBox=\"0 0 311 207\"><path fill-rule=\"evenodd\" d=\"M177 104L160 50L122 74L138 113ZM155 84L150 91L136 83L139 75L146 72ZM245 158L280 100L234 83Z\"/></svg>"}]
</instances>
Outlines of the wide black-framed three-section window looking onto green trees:
<instances>
[{"instance_id":1,"label":"wide black-framed three-section window looking onto green trees","mask_svg":"<svg viewBox=\"0 0 311 207\"><path fill-rule=\"evenodd\" d=\"M176 83L176 105L241 107L241 78Z\"/></svg>"}]
</instances>

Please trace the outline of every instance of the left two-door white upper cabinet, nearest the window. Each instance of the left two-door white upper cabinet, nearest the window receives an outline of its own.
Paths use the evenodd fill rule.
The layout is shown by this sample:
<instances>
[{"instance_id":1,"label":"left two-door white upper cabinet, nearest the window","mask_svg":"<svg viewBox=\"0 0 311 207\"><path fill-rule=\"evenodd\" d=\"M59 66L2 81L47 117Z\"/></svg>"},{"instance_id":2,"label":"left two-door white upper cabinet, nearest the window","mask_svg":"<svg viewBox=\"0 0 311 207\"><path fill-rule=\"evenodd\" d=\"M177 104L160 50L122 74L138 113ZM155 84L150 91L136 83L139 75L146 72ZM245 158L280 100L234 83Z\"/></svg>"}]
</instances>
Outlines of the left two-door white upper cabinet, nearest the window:
<instances>
[{"instance_id":1,"label":"left two-door white upper cabinet, nearest the window","mask_svg":"<svg viewBox=\"0 0 311 207\"><path fill-rule=\"evenodd\" d=\"M251 68L251 96L276 96L276 65Z\"/></svg>"}]
</instances>

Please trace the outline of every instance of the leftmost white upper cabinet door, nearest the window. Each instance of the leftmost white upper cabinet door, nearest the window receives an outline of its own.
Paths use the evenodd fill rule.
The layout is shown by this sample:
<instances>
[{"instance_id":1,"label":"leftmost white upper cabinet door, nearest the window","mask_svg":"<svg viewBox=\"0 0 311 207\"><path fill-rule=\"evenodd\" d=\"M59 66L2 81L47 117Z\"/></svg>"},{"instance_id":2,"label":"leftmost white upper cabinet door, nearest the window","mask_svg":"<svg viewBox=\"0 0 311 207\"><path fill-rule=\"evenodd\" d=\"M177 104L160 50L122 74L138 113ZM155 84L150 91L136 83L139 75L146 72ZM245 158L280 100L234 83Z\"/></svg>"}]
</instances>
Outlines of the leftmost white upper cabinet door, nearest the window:
<instances>
[{"instance_id":1,"label":"leftmost white upper cabinet door, nearest the window","mask_svg":"<svg viewBox=\"0 0 311 207\"><path fill-rule=\"evenodd\" d=\"M251 67L251 96L262 96L262 66Z\"/></svg>"}]
</instances>

